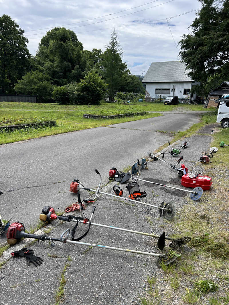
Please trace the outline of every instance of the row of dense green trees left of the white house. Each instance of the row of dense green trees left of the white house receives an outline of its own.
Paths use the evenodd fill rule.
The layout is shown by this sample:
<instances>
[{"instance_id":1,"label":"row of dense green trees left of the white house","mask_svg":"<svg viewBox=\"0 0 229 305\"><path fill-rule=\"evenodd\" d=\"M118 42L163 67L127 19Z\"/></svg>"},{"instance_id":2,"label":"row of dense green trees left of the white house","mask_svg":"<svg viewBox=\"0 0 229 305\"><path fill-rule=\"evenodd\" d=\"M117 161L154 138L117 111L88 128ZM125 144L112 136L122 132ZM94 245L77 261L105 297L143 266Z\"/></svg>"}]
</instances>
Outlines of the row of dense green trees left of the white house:
<instances>
[{"instance_id":1,"label":"row of dense green trees left of the white house","mask_svg":"<svg viewBox=\"0 0 229 305\"><path fill-rule=\"evenodd\" d=\"M39 102L98 103L104 93L144 93L141 81L122 62L117 33L105 51L84 50L74 31L55 27L41 39L35 56L24 30L10 16L0 17L0 93L36 95Z\"/></svg>"}]
</instances>

